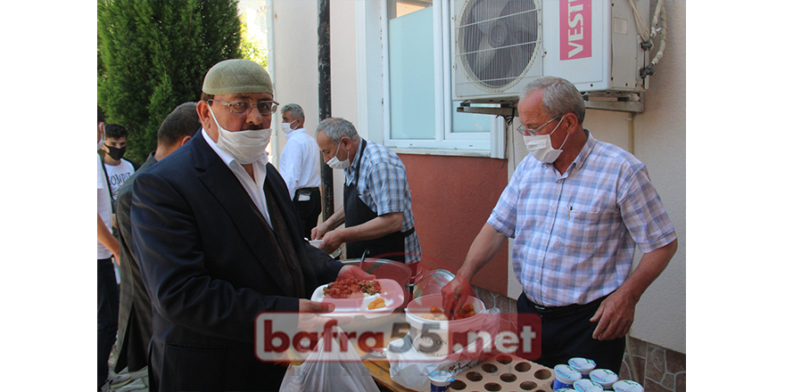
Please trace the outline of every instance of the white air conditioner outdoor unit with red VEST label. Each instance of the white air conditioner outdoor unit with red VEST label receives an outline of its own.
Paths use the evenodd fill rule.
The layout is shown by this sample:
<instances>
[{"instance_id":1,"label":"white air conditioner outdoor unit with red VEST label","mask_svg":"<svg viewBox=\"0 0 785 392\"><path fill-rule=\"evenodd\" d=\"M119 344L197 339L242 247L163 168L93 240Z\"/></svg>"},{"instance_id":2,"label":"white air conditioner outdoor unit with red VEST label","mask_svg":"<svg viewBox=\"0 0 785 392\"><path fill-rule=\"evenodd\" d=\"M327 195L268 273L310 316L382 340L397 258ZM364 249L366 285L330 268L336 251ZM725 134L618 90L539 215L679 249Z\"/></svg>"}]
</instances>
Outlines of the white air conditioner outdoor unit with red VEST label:
<instances>
[{"instance_id":1,"label":"white air conditioner outdoor unit with red VEST label","mask_svg":"<svg viewBox=\"0 0 785 392\"><path fill-rule=\"evenodd\" d=\"M649 0L633 0L642 20ZM455 101L510 102L556 76L581 92L645 91L649 63L628 0L457 0L452 3Z\"/></svg>"}]
</instances>

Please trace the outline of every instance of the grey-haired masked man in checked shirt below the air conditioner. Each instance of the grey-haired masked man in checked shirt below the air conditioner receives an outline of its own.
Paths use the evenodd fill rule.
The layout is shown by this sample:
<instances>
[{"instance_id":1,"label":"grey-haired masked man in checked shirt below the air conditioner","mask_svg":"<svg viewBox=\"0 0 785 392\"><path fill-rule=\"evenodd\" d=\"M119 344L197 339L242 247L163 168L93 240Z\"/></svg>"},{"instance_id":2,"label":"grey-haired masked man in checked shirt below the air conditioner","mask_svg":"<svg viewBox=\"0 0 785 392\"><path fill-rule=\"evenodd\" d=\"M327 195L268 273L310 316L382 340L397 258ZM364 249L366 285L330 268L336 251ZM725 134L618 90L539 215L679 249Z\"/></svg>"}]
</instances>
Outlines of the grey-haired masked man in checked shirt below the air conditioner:
<instances>
[{"instance_id":1,"label":"grey-haired masked man in checked shirt below the air conditioner","mask_svg":"<svg viewBox=\"0 0 785 392\"><path fill-rule=\"evenodd\" d=\"M643 163L583 128L573 84L540 78L520 97L529 155L442 289L443 306L458 310L472 277L512 238L518 313L541 317L537 362L581 356L618 373L635 305L676 252L676 233ZM636 245L643 256L631 274Z\"/></svg>"}]
</instances>

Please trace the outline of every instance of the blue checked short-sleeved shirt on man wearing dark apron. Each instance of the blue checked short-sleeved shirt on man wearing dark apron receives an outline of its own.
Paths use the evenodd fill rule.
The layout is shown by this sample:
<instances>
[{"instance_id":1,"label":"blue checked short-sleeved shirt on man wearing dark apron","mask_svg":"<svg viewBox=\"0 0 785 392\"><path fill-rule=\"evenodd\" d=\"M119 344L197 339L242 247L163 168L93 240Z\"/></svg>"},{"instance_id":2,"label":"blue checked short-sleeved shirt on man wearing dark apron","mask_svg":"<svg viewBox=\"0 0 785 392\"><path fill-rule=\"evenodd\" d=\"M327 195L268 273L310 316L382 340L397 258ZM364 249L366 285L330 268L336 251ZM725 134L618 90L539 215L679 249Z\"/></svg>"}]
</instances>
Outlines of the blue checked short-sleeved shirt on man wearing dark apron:
<instances>
[{"instance_id":1,"label":"blue checked short-sleeved shirt on man wearing dark apron","mask_svg":"<svg viewBox=\"0 0 785 392\"><path fill-rule=\"evenodd\" d=\"M357 184L359 200L377 216L402 212L401 232L405 232L414 227L406 167L395 152L369 140L366 142L362 157L354 159L351 167L344 170L346 184ZM404 240L404 251L407 264L422 258L417 231Z\"/></svg>"}]
</instances>

